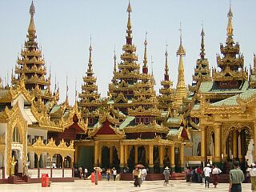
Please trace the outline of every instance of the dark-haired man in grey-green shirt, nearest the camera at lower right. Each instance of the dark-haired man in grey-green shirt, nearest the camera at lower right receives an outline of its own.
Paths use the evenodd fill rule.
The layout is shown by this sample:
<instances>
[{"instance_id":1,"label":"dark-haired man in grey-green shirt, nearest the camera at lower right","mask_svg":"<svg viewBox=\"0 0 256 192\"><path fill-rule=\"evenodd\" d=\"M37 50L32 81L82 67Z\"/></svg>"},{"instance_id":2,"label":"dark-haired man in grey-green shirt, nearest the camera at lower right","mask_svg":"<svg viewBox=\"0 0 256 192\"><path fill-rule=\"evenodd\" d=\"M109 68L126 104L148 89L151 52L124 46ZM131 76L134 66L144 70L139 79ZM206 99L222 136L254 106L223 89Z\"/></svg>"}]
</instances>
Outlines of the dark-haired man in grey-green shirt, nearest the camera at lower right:
<instances>
[{"instance_id":1,"label":"dark-haired man in grey-green shirt, nearest the camera at lower right","mask_svg":"<svg viewBox=\"0 0 256 192\"><path fill-rule=\"evenodd\" d=\"M242 170L239 169L239 162L234 161L234 169L230 170L230 192L242 192L241 182L245 180Z\"/></svg>"}]
</instances>

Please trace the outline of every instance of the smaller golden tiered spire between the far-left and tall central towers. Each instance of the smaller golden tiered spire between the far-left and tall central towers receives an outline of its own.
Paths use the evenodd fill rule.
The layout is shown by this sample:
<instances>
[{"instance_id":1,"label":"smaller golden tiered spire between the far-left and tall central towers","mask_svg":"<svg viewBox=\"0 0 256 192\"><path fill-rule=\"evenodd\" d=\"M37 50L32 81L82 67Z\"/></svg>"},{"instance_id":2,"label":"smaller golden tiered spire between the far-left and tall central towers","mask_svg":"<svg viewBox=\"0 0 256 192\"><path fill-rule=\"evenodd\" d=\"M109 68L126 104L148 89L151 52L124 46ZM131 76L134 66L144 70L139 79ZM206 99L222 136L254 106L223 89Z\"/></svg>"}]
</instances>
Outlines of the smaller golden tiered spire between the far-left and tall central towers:
<instances>
[{"instance_id":1,"label":"smaller golden tiered spire between the far-left and tall central towers","mask_svg":"<svg viewBox=\"0 0 256 192\"><path fill-rule=\"evenodd\" d=\"M89 126L93 126L98 122L98 107L101 106L98 94L98 86L96 85L97 78L94 77L92 63L92 46L90 43L90 56L86 76L83 77L82 93L79 94L80 101L78 106L82 110L83 118L88 118Z\"/></svg>"}]
</instances>

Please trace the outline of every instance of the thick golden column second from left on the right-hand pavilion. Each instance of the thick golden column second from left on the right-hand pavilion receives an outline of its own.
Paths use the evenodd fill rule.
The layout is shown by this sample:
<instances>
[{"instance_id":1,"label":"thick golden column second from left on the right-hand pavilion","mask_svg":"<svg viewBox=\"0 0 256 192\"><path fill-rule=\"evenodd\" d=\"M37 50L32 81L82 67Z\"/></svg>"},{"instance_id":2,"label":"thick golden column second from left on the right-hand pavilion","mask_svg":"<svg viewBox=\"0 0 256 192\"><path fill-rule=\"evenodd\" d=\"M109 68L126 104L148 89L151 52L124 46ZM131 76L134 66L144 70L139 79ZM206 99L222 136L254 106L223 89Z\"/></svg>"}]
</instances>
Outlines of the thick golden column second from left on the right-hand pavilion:
<instances>
[{"instance_id":1,"label":"thick golden column second from left on the right-hand pavilion","mask_svg":"<svg viewBox=\"0 0 256 192\"><path fill-rule=\"evenodd\" d=\"M222 132L221 132L221 125L215 124L214 125L214 162L222 162Z\"/></svg>"}]
</instances>

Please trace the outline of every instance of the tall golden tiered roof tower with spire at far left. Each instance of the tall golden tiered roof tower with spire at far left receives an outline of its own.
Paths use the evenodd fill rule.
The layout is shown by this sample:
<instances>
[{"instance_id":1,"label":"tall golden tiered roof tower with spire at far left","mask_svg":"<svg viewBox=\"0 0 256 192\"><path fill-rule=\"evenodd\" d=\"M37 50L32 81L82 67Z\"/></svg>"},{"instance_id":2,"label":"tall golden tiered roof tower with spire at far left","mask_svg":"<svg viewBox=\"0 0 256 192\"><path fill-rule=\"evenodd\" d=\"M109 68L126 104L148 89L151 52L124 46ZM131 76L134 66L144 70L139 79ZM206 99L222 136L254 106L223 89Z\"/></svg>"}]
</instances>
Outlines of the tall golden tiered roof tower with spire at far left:
<instances>
[{"instance_id":1,"label":"tall golden tiered roof tower with spire at far left","mask_svg":"<svg viewBox=\"0 0 256 192\"><path fill-rule=\"evenodd\" d=\"M55 97L50 91L50 77L46 78L45 60L42 58L42 50L38 48L36 29L34 26L34 4L30 6L30 25L28 27L28 34L25 46L21 51L21 58L18 58L15 66L15 74L12 75L12 83L14 85L20 84L20 81L25 83L27 90L34 92L36 100L42 98L44 103L52 100L58 100L58 93Z\"/></svg>"}]
</instances>

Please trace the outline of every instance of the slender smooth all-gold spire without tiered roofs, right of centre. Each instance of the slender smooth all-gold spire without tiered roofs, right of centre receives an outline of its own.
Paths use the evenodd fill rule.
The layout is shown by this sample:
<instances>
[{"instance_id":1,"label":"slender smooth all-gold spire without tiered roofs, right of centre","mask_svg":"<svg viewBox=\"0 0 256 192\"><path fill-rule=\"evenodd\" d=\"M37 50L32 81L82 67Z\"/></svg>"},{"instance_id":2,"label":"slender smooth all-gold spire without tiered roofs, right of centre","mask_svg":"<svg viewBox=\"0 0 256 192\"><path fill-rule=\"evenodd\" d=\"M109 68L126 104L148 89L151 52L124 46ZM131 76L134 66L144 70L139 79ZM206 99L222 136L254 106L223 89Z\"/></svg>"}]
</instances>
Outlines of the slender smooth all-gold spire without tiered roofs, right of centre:
<instances>
[{"instance_id":1,"label":"slender smooth all-gold spire without tiered roofs, right of centre","mask_svg":"<svg viewBox=\"0 0 256 192\"><path fill-rule=\"evenodd\" d=\"M178 47L177 56L179 55L179 63L178 63L178 82L175 92L175 103L177 106L182 104L182 98L185 98L186 95L186 86L185 86L185 78L184 78L184 65L182 57L186 55L186 52L182 46L182 25L180 23L180 45Z\"/></svg>"}]
</instances>

